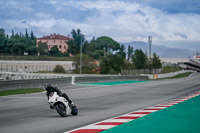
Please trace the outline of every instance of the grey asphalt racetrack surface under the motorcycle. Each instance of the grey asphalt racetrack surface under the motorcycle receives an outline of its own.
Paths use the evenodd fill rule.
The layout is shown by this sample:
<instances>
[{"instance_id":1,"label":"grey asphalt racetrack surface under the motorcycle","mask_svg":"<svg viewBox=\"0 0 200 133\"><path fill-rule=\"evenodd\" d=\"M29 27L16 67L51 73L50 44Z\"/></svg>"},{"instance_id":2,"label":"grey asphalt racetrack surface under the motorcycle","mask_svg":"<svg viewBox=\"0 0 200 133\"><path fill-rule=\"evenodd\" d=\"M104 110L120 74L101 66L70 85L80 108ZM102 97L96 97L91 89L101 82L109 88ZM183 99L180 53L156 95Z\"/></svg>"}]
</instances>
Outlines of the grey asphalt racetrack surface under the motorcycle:
<instances>
[{"instance_id":1,"label":"grey asphalt racetrack surface under the motorcycle","mask_svg":"<svg viewBox=\"0 0 200 133\"><path fill-rule=\"evenodd\" d=\"M0 97L0 133L60 133L153 106L200 90L200 74L173 80L116 86L61 87L79 108L60 117L49 109L45 93Z\"/></svg>"}]
</instances>

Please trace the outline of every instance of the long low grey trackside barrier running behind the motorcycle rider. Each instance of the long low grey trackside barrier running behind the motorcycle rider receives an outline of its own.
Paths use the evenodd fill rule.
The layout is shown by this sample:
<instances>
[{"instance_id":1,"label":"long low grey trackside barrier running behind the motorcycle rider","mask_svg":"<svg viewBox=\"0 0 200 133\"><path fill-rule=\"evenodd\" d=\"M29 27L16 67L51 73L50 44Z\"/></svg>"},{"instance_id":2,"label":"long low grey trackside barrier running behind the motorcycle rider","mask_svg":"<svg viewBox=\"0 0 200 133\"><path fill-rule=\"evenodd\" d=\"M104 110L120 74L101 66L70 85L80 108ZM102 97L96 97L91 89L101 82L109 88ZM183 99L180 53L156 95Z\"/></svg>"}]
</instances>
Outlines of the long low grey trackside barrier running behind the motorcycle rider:
<instances>
[{"instance_id":1,"label":"long low grey trackside barrier running behind the motorcycle rider","mask_svg":"<svg viewBox=\"0 0 200 133\"><path fill-rule=\"evenodd\" d=\"M92 83L120 80L147 80L147 76L74 76L73 82ZM27 79L27 80L8 80L0 81L0 90L23 89L23 88L43 88L45 83L51 83L53 86L70 86L72 77L53 78L53 79Z\"/></svg>"}]
</instances>

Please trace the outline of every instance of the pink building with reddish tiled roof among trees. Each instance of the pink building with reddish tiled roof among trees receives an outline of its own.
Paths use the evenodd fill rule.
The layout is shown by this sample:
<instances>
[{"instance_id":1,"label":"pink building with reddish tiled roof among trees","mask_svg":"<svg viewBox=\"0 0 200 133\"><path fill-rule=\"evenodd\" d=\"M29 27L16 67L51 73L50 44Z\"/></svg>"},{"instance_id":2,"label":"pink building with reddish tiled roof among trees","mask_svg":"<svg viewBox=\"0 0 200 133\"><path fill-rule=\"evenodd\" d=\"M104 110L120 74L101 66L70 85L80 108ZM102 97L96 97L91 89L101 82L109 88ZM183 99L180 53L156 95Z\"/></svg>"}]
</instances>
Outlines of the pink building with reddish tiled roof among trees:
<instances>
[{"instance_id":1,"label":"pink building with reddish tiled roof among trees","mask_svg":"<svg viewBox=\"0 0 200 133\"><path fill-rule=\"evenodd\" d=\"M62 53L66 53L68 49L67 42L71 40L71 38L68 36L63 36L59 34L51 34L50 36L43 36L41 38L36 39L36 47L38 47L38 43L47 43L48 50L50 50L52 47L57 46L58 50Z\"/></svg>"}]
</instances>

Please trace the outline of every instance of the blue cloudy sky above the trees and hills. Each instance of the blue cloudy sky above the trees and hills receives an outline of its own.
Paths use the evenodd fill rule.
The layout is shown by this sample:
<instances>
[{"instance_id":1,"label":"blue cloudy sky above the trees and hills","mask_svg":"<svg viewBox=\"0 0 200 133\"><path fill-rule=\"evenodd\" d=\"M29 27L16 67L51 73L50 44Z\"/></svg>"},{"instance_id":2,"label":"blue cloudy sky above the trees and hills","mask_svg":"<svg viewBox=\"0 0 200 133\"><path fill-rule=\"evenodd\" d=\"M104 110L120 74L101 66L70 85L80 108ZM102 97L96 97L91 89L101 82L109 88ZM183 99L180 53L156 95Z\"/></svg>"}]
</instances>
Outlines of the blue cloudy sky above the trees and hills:
<instances>
[{"instance_id":1,"label":"blue cloudy sky above the trees and hills","mask_svg":"<svg viewBox=\"0 0 200 133\"><path fill-rule=\"evenodd\" d=\"M0 0L0 28L37 37L78 29L91 40L148 41L200 51L200 0Z\"/></svg>"}]
</instances>

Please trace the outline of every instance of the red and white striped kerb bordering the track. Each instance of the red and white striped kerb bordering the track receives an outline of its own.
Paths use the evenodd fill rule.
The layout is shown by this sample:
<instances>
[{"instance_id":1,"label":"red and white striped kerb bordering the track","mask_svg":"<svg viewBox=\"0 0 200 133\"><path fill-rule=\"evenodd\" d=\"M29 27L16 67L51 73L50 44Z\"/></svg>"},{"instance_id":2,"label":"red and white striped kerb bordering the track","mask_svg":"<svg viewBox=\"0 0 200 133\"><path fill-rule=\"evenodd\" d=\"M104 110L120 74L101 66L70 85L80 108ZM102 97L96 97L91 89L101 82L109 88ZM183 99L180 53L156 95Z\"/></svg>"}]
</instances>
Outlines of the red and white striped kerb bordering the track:
<instances>
[{"instance_id":1,"label":"red and white striped kerb bordering the track","mask_svg":"<svg viewBox=\"0 0 200 133\"><path fill-rule=\"evenodd\" d=\"M130 112L128 114L124 114L124 115L117 116L117 117L114 117L111 119L107 119L107 120L104 120L101 122L97 122L97 123L94 123L91 125L87 125L87 126L84 126L84 127L78 128L78 129L67 131L65 133L98 133L98 132L113 128L115 126L124 124L126 122L135 120L137 118L143 117L145 115L156 112L158 110L181 103L183 101L186 101L186 100L196 97L198 95L200 95L200 91L197 91L193 94L189 94L187 96L184 96L184 97L181 97L181 98L178 98L175 100L171 100L171 101L167 101L167 102L155 105L153 107L144 108L141 110Z\"/></svg>"}]
</instances>

